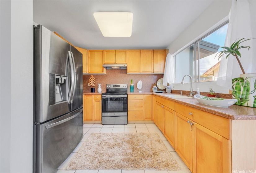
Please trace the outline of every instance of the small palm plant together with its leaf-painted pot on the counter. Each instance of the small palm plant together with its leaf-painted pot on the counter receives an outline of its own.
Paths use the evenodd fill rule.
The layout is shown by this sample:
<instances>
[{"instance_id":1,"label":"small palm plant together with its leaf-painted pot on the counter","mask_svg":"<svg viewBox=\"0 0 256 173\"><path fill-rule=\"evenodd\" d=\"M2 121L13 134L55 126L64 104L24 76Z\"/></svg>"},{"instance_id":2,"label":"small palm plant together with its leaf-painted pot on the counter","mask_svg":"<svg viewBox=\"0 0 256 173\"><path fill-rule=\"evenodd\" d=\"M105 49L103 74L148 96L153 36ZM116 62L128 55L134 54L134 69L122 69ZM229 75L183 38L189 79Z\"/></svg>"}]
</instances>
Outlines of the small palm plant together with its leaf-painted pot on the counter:
<instances>
[{"instance_id":1,"label":"small palm plant together with its leaf-painted pot on the counter","mask_svg":"<svg viewBox=\"0 0 256 173\"><path fill-rule=\"evenodd\" d=\"M218 59L223 55L227 55L227 57L233 55L236 57L243 74L240 74L240 78L232 79L232 97L237 99L236 105L256 107L256 74L245 74L245 70L239 60L239 57L241 57L239 49L251 49L250 46L239 46L240 43L247 40L251 39L244 40L243 38L232 43L230 47L221 47L223 50L217 53L216 56L218 55Z\"/></svg>"}]
</instances>

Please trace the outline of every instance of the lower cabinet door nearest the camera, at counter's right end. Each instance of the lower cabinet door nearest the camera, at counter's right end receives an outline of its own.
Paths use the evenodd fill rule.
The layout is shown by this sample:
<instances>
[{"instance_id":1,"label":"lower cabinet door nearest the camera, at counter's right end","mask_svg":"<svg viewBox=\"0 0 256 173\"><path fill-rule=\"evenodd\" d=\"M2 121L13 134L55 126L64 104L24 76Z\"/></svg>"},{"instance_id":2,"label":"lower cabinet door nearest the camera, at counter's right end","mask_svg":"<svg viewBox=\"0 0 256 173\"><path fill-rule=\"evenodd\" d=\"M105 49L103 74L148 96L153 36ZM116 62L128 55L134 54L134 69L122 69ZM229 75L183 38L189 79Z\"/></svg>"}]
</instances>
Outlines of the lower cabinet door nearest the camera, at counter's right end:
<instances>
[{"instance_id":1,"label":"lower cabinet door nearest the camera, at counter's right end","mask_svg":"<svg viewBox=\"0 0 256 173\"><path fill-rule=\"evenodd\" d=\"M194 122L193 172L232 172L231 141Z\"/></svg>"}]
</instances>

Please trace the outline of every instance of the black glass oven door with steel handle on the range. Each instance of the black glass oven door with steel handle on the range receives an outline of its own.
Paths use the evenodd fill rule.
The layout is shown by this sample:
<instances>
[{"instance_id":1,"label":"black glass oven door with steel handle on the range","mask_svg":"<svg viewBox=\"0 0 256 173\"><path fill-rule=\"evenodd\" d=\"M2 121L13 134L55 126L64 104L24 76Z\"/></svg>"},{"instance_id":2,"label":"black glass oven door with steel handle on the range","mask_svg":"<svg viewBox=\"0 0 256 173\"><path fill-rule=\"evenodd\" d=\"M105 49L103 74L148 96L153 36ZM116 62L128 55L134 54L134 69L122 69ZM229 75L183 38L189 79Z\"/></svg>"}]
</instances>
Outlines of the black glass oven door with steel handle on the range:
<instances>
[{"instance_id":1,"label":"black glass oven door with steel handle on the range","mask_svg":"<svg viewBox=\"0 0 256 173\"><path fill-rule=\"evenodd\" d=\"M127 95L102 95L101 97L102 116L127 116Z\"/></svg>"}]
</instances>

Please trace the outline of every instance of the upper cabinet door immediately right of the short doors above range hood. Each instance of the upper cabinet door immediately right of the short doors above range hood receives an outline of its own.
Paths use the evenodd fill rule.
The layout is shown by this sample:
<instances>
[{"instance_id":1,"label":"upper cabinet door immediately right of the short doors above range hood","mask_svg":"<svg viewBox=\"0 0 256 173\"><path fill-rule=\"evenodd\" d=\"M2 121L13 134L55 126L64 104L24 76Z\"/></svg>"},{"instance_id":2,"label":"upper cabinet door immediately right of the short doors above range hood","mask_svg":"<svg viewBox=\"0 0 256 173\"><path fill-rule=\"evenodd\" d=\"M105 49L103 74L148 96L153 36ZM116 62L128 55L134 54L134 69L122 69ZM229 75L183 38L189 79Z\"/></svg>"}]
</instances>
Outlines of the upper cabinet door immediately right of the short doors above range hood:
<instances>
[{"instance_id":1,"label":"upper cabinet door immediately right of the short doors above range hood","mask_svg":"<svg viewBox=\"0 0 256 173\"><path fill-rule=\"evenodd\" d=\"M141 50L127 50L127 73L141 73Z\"/></svg>"}]
</instances>

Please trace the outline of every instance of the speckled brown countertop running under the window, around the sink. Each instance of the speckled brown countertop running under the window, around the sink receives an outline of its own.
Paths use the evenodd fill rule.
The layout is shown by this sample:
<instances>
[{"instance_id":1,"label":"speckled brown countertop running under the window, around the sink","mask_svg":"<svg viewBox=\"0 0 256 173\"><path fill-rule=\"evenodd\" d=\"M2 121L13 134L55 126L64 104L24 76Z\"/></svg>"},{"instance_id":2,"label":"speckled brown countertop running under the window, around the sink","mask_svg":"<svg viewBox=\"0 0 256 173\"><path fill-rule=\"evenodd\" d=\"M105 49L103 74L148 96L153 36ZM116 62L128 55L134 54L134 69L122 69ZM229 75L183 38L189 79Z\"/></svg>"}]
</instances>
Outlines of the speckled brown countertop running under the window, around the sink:
<instances>
[{"instance_id":1,"label":"speckled brown countertop running under the window, around the sink","mask_svg":"<svg viewBox=\"0 0 256 173\"><path fill-rule=\"evenodd\" d=\"M218 116L222 116L232 120L256 120L256 108L250 108L245 106L232 105L228 108L220 108L215 106L208 106L201 103L198 103L193 97L191 99L173 99L166 97L164 95L168 95L169 93L153 93L153 95L158 95L164 97L165 99L169 99L175 101L177 103L184 104L186 106L190 106L192 108L196 108L205 112L209 112Z\"/></svg>"}]
</instances>

